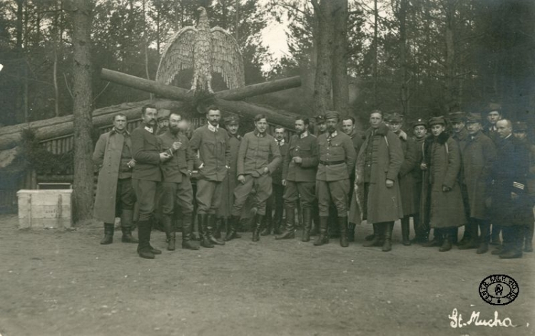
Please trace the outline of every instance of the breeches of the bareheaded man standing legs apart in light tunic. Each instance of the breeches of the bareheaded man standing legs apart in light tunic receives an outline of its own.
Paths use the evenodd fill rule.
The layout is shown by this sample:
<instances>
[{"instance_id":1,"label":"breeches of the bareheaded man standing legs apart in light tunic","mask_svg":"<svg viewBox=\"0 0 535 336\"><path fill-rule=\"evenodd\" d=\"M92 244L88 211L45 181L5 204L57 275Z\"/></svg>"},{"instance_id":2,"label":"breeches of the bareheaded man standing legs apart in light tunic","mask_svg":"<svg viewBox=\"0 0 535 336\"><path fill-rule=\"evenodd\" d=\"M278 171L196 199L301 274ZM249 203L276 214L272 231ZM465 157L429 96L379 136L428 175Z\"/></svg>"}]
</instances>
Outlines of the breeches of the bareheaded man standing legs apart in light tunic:
<instances>
[{"instance_id":1,"label":"breeches of the bareheaded man standing legs apart in light tunic","mask_svg":"<svg viewBox=\"0 0 535 336\"><path fill-rule=\"evenodd\" d=\"M233 216L240 216L245 201L247 201L253 189L256 191L255 203L258 209L257 214L265 215L265 201L267 201L272 193L271 177L267 174L260 177L245 175L245 183L238 183L234 189Z\"/></svg>"}]
</instances>

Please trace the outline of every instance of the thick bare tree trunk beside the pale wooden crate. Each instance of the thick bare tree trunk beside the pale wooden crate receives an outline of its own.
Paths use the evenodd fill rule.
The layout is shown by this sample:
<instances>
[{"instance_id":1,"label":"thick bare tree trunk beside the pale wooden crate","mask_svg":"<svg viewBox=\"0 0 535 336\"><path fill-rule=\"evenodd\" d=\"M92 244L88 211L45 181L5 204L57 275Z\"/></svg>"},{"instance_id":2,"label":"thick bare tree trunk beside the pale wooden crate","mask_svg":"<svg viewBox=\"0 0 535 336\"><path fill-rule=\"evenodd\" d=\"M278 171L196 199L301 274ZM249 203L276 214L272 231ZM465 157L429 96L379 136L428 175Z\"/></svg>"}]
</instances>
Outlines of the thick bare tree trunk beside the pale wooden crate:
<instances>
[{"instance_id":1,"label":"thick bare tree trunk beside the pale wooden crate","mask_svg":"<svg viewBox=\"0 0 535 336\"><path fill-rule=\"evenodd\" d=\"M91 7L90 0L71 0L73 4L73 127L75 221L91 219L93 206L93 141L91 140Z\"/></svg>"}]
</instances>

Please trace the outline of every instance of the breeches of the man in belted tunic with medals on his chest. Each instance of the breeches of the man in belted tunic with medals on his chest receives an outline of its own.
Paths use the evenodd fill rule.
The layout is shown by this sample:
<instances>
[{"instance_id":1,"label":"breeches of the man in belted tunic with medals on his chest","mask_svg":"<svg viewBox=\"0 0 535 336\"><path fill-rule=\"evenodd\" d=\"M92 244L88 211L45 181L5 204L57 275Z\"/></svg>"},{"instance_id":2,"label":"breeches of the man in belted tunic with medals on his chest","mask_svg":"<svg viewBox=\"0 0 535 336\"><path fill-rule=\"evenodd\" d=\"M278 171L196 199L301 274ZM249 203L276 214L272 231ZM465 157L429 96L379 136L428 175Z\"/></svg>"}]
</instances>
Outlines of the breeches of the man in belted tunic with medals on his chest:
<instances>
[{"instance_id":1,"label":"breeches of the man in belted tunic with medals on his chest","mask_svg":"<svg viewBox=\"0 0 535 336\"><path fill-rule=\"evenodd\" d=\"M329 204L332 201L338 211L338 217L347 216L347 195L350 192L350 180L316 181L317 205L320 216L329 216Z\"/></svg>"}]
</instances>

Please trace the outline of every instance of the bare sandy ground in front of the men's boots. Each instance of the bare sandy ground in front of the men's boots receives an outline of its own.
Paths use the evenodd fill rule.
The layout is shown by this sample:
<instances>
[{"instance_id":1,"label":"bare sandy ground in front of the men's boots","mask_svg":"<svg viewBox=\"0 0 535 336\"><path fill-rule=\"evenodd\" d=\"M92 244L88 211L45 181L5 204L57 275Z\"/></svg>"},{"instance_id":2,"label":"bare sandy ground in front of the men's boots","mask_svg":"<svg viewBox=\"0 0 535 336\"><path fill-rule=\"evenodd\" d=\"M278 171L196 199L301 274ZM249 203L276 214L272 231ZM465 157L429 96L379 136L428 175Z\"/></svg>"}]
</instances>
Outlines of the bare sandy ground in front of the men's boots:
<instances>
[{"instance_id":1,"label":"bare sandy ground in front of the men's boots","mask_svg":"<svg viewBox=\"0 0 535 336\"><path fill-rule=\"evenodd\" d=\"M163 251L155 260L136 245L99 245L103 229L17 229L0 216L0 335L535 335L534 253L500 260L490 253L402 246L391 253L357 242L250 241ZM136 235L136 233L134 233ZM153 233L164 249L165 236ZM519 297L484 303L479 283L511 275ZM508 317L516 327L450 325Z\"/></svg>"}]
</instances>

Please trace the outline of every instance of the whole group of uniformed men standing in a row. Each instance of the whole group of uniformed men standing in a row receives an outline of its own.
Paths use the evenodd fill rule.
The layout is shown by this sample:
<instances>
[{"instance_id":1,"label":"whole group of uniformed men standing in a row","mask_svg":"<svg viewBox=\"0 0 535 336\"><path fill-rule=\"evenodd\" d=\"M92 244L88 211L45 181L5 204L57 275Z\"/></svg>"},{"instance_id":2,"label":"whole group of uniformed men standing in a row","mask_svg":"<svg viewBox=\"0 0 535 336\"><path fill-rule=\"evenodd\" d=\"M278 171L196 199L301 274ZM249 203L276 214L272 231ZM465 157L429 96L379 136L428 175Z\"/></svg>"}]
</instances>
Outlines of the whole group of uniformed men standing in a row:
<instances>
[{"instance_id":1,"label":"whole group of uniformed men standing in a row","mask_svg":"<svg viewBox=\"0 0 535 336\"><path fill-rule=\"evenodd\" d=\"M532 251L535 145L526 123L502 119L499 109L489 111L486 122L464 112L418 119L407 132L397 113L372 111L370 128L362 132L353 117L327 111L315 117L316 135L307 117L297 117L289 142L283 127L275 127L275 137L268 134L265 115L240 137L238 117L225 117L220 127L221 112L210 106L206 125L188 137L188 121L169 112L168 126L158 132L158 109L143 107L141 125L131 133L119 113L98 139L94 217L104 222L102 244L113 242L119 216L122 241L138 243L141 258L155 258L161 251L150 239L159 209L169 251L175 249L175 211L183 221L182 248L213 248L240 238L240 218L254 207L253 241L271 232L276 239L295 238L297 217L302 241L317 233L315 246L337 237L347 247L355 226L366 220L373 234L364 246L391 251L394 222L401 219L407 246L449 251L457 244L481 254L494 244L491 253L499 258ZM136 202L138 239L132 236ZM460 226L464 235L457 241Z\"/></svg>"}]
</instances>

